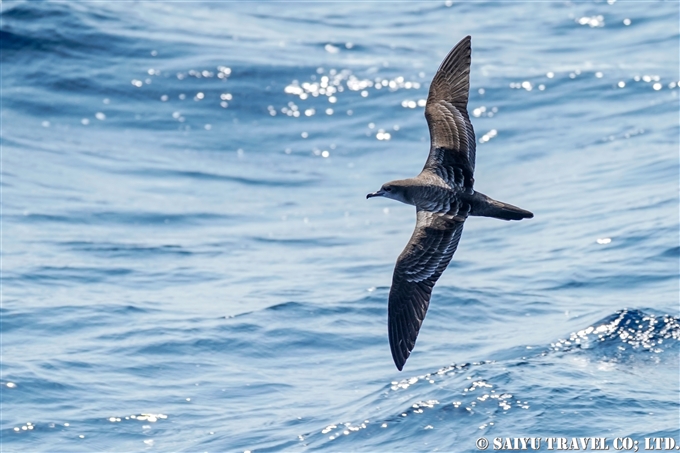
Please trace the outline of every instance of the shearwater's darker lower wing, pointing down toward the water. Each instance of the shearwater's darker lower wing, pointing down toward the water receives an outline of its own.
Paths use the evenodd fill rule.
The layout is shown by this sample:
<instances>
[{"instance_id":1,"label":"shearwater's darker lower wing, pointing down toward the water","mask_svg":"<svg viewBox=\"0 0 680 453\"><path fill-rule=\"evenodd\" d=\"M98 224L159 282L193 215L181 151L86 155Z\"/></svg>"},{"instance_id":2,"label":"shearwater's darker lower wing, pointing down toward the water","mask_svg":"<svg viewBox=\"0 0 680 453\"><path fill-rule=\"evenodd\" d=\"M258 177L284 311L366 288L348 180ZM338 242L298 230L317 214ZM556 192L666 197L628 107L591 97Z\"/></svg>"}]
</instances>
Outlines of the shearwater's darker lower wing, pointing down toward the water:
<instances>
[{"instance_id":1,"label":"shearwater's darker lower wing, pointing down toward the water","mask_svg":"<svg viewBox=\"0 0 680 453\"><path fill-rule=\"evenodd\" d=\"M413 350L432 288L458 247L463 222L418 211L416 228L394 268L388 307L390 348L401 371Z\"/></svg>"}]
</instances>

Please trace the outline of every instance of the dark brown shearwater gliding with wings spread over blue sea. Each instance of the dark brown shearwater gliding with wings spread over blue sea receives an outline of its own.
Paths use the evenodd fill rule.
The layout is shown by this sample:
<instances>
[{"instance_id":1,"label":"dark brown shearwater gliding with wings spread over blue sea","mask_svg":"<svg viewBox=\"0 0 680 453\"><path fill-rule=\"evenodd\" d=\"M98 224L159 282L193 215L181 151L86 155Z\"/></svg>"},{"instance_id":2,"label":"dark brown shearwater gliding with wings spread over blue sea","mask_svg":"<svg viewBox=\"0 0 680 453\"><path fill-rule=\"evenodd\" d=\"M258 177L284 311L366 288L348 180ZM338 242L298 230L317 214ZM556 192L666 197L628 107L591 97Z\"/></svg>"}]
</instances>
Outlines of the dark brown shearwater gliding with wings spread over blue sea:
<instances>
[{"instance_id":1,"label":"dark brown shearwater gliding with wings spread over blue sea","mask_svg":"<svg viewBox=\"0 0 680 453\"><path fill-rule=\"evenodd\" d=\"M415 178L390 181L366 198L386 197L416 207L416 228L394 268L388 304L392 358L399 371L416 344L432 288L458 247L468 216L521 220L534 215L473 189L475 132L467 112L470 36L437 70L425 104L430 155Z\"/></svg>"}]
</instances>

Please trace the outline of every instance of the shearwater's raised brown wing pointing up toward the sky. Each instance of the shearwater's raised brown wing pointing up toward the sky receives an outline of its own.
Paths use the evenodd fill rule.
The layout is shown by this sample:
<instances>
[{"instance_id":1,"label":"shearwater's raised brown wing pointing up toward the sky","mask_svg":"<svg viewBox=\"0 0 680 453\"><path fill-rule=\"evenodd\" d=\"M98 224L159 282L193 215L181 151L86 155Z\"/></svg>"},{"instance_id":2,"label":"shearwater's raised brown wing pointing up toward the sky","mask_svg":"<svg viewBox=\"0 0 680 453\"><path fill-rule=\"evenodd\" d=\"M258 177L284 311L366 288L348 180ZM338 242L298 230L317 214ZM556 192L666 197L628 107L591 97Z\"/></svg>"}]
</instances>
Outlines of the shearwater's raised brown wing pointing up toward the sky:
<instances>
[{"instance_id":1,"label":"shearwater's raised brown wing pointing up toward the sky","mask_svg":"<svg viewBox=\"0 0 680 453\"><path fill-rule=\"evenodd\" d=\"M467 112L470 91L471 38L456 44L437 70L425 105L430 128L430 155L425 169L452 181L452 169L467 173L466 186L472 187L475 170L475 131Z\"/></svg>"}]
</instances>

